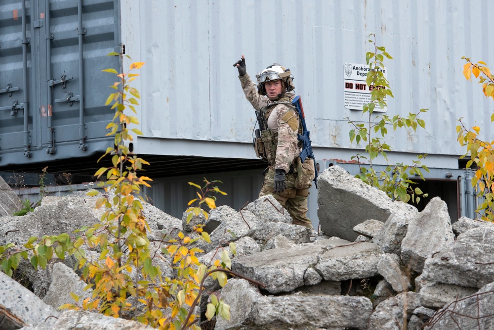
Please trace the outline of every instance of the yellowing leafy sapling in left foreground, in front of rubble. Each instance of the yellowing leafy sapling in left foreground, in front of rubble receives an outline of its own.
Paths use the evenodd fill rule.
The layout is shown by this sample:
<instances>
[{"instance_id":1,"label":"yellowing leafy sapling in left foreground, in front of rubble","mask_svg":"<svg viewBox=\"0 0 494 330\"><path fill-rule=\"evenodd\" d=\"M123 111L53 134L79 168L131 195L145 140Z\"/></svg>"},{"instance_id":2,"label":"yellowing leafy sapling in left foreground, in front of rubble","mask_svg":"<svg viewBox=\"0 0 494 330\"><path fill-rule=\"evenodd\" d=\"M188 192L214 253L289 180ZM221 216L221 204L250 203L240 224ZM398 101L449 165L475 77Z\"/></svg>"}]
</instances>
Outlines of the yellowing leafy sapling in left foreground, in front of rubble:
<instances>
[{"instance_id":1,"label":"yellowing leafy sapling in left foreground, in front of rubble","mask_svg":"<svg viewBox=\"0 0 494 330\"><path fill-rule=\"evenodd\" d=\"M13 243L0 246L0 264L2 270L11 276L21 257L29 259L33 267L41 266L44 269L53 253L60 259L64 259L66 254L74 255L78 260L76 267L82 271L82 279L87 283L85 289L91 289L92 295L81 299L71 294L76 303L60 308L92 310L107 316L131 318L159 329L198 330L200 327L196 323L199 316L194 314L194 307L204 289L204 279L211 276L223 286L227 282L227 274L237 274L229 270L231 261L227 253L222 253L221 260L209 267L199 262L196 254L203 251L192 244L198 239L210 242L209 235L203 232L200 225L194 227L194 232L198 234L194 237L181 232L175 237L165 233L156 240L163 246L161 252L170 258L177 273L175 278L163 278L160 267L155 263L160 253L152 250L147 236L150 228L143 215L142 197L139 195L140 187L149 187L151 180L138 175L138 171L148 162L131 154L125 145L125 142L132 141L130 132L141 134L138 129L129 128L130 124L137 125L138 120L124 110L136 112L134 106L139 104L139 93L128 84L138 76L131 70L143 64L132 63L127 72L122 67L122 73L115 69L103 70L115 74L119 80L111 86L116 92L106 101L107 105L113 103L112 109L115 109L113 120L107 125L110 130L108 135L114 136L114 146L109 147L101 157L111 156L112 166L102 167L95 174L98 178L106 176L106 181L98 183L104 192L88 192L88 195L100 196L96 208L106 210L101 222L83 227L74 235L33 236L22 247ZM201 193L189 205L199 200L197 207L200 212L206 212L201 209L203 203L209 208L216 207L215 198L210 193L225 194L212 186L217 181L205 181L203 189L191 183L199 187ZM191 212L197 212L196 208L192 207ZM82 248L83 245L86 248ZM98 251L99 256L95 259L87 257L87 249ZM231 249L235 251L235 244L231 245ZM133 304L128 302L130 296L134 297ZM211 306L207 307L208 318L216 314L229 318L229 307L221 300L212 298Z\"/></svg>"}]
</instances>

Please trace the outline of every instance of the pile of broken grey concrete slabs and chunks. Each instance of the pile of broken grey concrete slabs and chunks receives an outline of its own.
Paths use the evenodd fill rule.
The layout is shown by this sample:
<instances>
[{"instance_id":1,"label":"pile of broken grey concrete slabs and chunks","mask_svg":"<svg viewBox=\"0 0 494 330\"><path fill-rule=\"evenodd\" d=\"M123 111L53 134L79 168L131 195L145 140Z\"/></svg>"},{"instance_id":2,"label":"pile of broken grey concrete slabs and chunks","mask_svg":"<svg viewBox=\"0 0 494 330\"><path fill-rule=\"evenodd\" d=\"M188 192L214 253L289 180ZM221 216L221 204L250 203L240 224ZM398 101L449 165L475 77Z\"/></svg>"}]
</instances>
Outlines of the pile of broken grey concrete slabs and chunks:
<instances>
[{"instance_id":1,"label":"pile of broken grey concrete slabs and chunks","mask_svg":"<svg viewBox=\"0 0 494 330\"><path fill-rule=\"evenodd\" d=\"M78 192L45 197L22 217L3 215L0 245L96 223L103 211L94 204L95 197ZM234 272L264 285L231 278L221 288L206 281L202 313L211 292L231 308L231 320L218 318L214 329L494 327L494 318L487 317L494 299L493 224L460 218L452 225L439 197L419 212L338 166L320 175L318 204L317 236L291 225L288 212L271 196L240 211L220 206L207 220L192 219L192 224L205 224L211 238L212 244L197 244L205 250L203 263L218 259L221 246L230 253ZM144 208L151 239L191 230L185 214L176 219L152 205L145 203ZM236 255L231 254L231 241ZM157 250L162 247L153 244ZM37 271L21 263L23 284L31 290L0 273L0 329L147 329L128 320L57 310L73 302L70 292L88 297L82 290L85 283L73 271L74 262L55 258ZM170 260L161 256L159 262L166 276L173 276Z\"/></svg>"}]
</instances>

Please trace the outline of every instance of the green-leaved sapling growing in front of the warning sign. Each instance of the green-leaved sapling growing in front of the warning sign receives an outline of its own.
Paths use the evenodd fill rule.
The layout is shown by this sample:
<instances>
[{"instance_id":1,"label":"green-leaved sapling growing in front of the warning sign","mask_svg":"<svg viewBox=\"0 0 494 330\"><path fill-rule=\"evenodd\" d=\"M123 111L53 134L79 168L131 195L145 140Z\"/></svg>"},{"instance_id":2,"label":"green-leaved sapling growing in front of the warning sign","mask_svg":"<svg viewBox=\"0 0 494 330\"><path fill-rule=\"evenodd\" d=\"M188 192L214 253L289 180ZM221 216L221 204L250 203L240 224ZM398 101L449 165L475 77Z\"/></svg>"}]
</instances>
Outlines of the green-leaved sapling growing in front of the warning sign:
<instances>
[{"instance_id":1,"label":"green-leaved sapling growing in front of the warning sign","mask_svg":"<svg viewBox=\"0 0 494 330\"><path fill-rule=\"evenodd\" d=\"M418 187L412 188L415 182L410 180L410 176L416 175L424 180L420 168L427 172L429 171L425 165L421 164L421 160L426 155L418 155L417 160L412 161L412 165L396 163L395 165L388 165L385 171L380 172L376 172L373 169L372 162L379 155L388 161L386 151L391 151L391 146L383 141L385 135L388 133L387 126L392 125L394 131L397 128L412 128L415 132L418 127L425 128L425 122L417 118L417 116L421 112L426 112L427 109L420 109L417 113L409 113L408 117L373 115L373 112L377 108L380 107L382 109L387 106L388 96L394 97L389 82L384 77L382 70L376 70L376 68L384 69L383 61L385 57L388 59L393 59L393 57L386 52L385 47L378 47L376 45L374 34L369 36L374 37L373 40L369 40L369 43L374 47L374 51L369 51L366 54L366 61L370 68L367 72L366 84L371 91L371 102L365 104L362 108L363 115L368 113L368 120L367 123L359 123L352 121L349 117L345 118L353 126L353 129L349 132L350 141L355 141L357 145L366 143L365 152L367 156L359 153L351 158L356 158L359 164L360 173L356 177L360 178L366 184L386 192L394 199L404 202L412 199L412 202L418 203L420 196L426 197L428 194L423 193ZM381 137L375 136L377 133L380 133ZM369 162L369 168L363 166L364 160Z\"/></svg>"}]
</instances>

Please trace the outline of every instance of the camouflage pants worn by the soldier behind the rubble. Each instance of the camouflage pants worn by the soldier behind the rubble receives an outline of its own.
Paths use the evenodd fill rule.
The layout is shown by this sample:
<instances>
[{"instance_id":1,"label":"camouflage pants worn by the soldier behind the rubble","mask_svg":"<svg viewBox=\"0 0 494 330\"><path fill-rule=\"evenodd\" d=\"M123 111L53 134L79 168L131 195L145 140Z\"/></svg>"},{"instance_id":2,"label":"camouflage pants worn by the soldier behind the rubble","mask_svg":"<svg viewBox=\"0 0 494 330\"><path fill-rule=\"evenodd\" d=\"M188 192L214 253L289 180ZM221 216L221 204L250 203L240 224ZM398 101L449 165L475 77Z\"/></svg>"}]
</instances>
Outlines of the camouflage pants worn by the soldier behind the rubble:
<instances>
[{"instance_id":1,"label":"camouflage pants worn by the soldier behind the rubble","mask_svg":"<svg viewBox=\"0 0 494 330\"><path fill-rule=\"evenodd\" d=\"M268 173L264 176L264 183L262 185L259 197L266 195L273 195L277 201L287 208L288 213L291 216L292 223L294 225L300 225L312 228L312 222L307 218L307 195L309 191L295 189L296 173L288 173L287 176L287 189L281 193L274 192L275 171L269 167ZM299 195L302 194L302 195Z\"/></svg>"}]
</instances>

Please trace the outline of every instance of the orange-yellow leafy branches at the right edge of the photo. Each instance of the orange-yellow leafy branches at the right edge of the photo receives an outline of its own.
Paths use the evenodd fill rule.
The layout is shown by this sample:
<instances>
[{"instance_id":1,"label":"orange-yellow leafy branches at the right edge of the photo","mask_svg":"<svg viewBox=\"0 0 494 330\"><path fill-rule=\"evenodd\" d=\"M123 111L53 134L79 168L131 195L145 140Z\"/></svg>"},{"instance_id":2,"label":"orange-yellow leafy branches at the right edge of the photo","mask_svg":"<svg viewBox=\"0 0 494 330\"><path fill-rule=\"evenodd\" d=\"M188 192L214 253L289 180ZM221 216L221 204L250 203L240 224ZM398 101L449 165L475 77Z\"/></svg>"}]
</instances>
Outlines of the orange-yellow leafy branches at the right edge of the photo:
<instances>
[{"instance_id":1,"label":"orange-yellow leafy branches at the right edge of the photo","mask_svg":"<svg viewBox=\"0 0 494 330\"><path fill-rule=\"evenodd\" d=\"M483 61L474 64L470 58L462 58L467 62L463 66L465 78L472 81L473 74L479 79L479 84L482 84L484 95L494 99L494 76L487 64ZM466 146L466 153L460 158L470 156L466 168L471 168L475 163L477 170L472 179L472 186L475 187L479 197L484 197L476 212L482 220L494 221L494 141L481 140L480 127L473 126L467 129L461 119L458 119L460 125L456 126L456 133L460 145ZM494 113L491 115L491 122L493 121Z\"/></svg>"}]
</instances>

